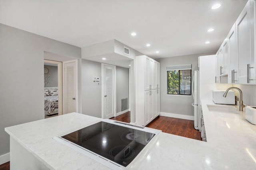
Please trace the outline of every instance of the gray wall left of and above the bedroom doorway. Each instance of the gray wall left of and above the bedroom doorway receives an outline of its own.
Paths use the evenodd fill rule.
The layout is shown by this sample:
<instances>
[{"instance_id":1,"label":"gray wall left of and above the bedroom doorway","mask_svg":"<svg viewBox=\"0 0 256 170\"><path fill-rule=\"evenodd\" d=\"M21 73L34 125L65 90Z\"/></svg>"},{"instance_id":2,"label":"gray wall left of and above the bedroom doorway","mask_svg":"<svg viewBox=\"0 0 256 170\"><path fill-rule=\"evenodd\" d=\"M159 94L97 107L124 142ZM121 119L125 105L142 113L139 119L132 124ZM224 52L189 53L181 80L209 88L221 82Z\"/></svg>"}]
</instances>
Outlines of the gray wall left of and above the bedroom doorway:
<instances>
[{"instance_id":1,"label":"gray wall left of and above the bedroom doorway","mask_svg":"<svg viewBox=\"0 0 256 170\"><path fill-rule=\"evenodd\" d=\"M81 48L3 24L0 37L1 161L10 152L4 127L44 119L44 51L81 59Z\"/></svg>"}]
</instances>

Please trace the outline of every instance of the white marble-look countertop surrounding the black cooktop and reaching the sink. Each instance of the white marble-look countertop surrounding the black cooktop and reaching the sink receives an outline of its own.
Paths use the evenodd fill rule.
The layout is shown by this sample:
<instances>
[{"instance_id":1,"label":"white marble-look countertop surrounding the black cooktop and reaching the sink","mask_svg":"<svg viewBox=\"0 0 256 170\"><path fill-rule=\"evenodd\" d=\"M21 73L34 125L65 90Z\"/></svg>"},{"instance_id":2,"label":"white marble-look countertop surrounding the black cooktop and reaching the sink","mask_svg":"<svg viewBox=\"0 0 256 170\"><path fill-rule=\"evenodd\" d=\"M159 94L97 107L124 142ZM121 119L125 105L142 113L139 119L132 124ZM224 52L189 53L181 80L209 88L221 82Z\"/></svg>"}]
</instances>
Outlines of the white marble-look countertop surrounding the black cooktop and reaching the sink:
<instances>
[{"instance_id":1,"label":"white marble-look countertop surrounding the black cooktop and reaching the sink","mask_svg":"<svg viewBox=\"0 0 256 170\"><path fill-rule=\"evenodd\" d=\"M161 132L138 169L256 169L256 125L244 119L244 112L211 112L207 104L213 102L202 101L207 142ZM105 170L106 166L52 139L99 120L69 113L5 130L50 169Z\"/></svg>"}]
</instances>

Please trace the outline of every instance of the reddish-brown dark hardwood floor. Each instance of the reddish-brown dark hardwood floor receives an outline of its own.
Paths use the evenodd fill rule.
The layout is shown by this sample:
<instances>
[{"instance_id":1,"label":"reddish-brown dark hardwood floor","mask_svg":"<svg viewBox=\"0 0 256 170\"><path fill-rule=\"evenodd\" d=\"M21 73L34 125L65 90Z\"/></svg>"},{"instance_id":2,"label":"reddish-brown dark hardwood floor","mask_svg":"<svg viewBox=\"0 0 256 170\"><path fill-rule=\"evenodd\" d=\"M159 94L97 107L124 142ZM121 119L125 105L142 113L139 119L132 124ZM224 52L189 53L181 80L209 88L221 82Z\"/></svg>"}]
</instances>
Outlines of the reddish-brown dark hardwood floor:
<instances>
[{"instance_id":1,"label":"reddish-brown dark hardwood floor","mask_svg":"<svg viewBox=\"0 0 256 170\"><path fill-rule=\"evenodd\" d=\"M112 117L111 119L130 123L130 111L120 116ZM159 129L165 133L202 141L200 132L194 129L194 121L192 120L158 116L151 123L149 123L147 127ZM10 170L10 162L6 162L5 164L0 165L0 170Z\"/></svg>"}]
</instances>

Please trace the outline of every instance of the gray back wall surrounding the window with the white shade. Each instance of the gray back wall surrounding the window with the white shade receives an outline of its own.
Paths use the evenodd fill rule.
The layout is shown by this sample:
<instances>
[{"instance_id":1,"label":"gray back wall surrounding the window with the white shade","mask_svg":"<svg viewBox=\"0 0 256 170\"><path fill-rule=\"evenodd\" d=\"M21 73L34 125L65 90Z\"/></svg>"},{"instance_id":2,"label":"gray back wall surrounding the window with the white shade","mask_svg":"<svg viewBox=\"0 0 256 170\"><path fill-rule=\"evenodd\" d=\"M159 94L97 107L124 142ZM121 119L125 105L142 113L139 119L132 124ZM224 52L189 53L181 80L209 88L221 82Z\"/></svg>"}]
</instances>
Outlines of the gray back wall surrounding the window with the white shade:
<instances>
[{"instance_id":1,"label":"gray back wall surrounding the window with the white shade","mask_svg":"<svg viewBox=\"0 0 256 170\"><path fill-rule=\"evenodd\" d=\"M156 59L160 63L160 112L194 116L192 96L167 95L166 66L192 64L192 78L194 70L198 70L198 57L214 53L184 55ZM192 79L191 79L192 80Z\"/></svg>"}]
</instances>

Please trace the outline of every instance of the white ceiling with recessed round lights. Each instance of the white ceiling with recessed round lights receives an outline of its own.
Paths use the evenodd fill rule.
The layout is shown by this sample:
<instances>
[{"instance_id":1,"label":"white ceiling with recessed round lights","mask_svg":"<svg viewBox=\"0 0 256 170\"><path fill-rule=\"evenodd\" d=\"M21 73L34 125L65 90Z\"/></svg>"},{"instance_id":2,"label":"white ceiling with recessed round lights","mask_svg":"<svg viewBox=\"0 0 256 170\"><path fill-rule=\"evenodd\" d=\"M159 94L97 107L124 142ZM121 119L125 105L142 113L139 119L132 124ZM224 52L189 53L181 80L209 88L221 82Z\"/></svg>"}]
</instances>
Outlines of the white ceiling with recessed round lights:
<instances>
[{"instance_id":1,"label":"white ceiling with recessed round lights","mask_svg":"<svg viewBox=\"0 0 256 170\"><path fill-rule=\"evenodd\" d=\"M246 2L0 0L0 23L78 47L116 39L149 57L163 58L216 52ZM221 7L212 10L216 3ZM215 30L207 32L209 28Z\"/></svg>"}]
</instances>

